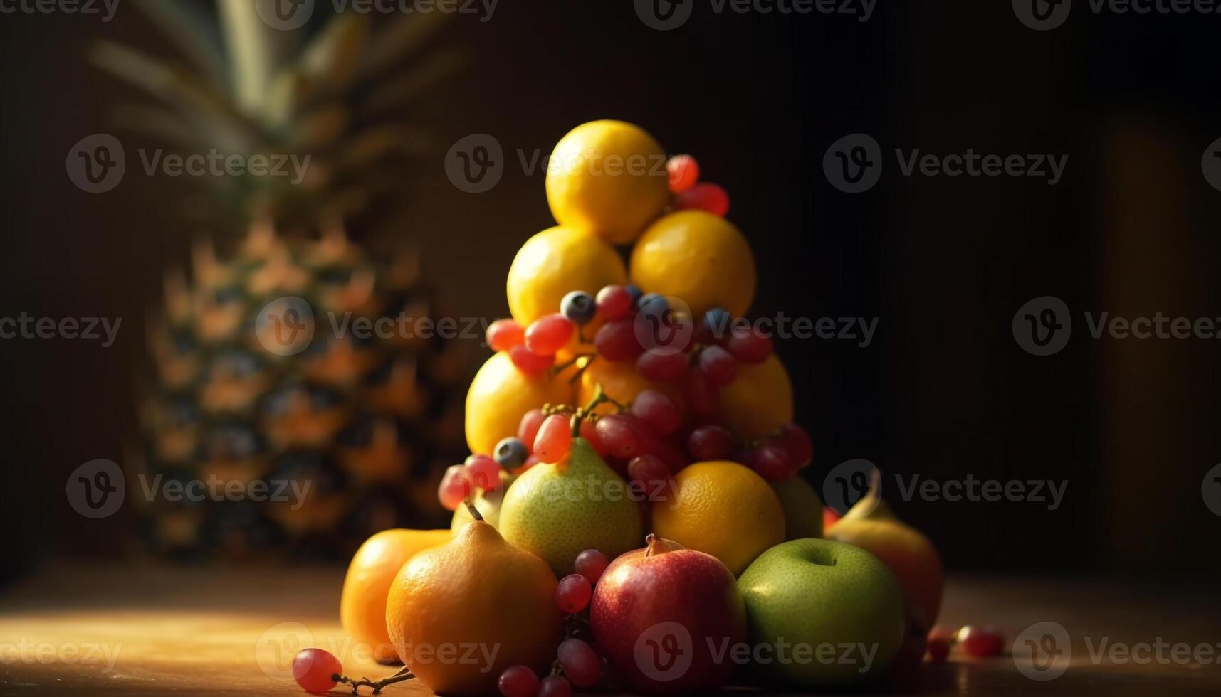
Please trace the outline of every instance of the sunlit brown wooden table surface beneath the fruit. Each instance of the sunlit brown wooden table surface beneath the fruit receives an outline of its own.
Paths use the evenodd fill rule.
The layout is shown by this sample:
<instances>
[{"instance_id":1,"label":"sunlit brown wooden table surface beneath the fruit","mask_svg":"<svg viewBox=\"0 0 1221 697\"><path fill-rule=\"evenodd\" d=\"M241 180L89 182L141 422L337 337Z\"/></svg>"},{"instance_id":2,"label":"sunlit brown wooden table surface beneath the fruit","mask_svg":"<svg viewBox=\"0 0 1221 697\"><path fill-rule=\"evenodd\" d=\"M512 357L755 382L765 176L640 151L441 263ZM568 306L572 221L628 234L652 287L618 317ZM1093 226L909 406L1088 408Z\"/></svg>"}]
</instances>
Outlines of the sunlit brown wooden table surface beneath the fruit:
<instances>
[{"instance_id":1,"label":"sunlit brown wooden table surface beneath the fruit","mask_svg":"<svg viewBox=\"0 0 1221 697\"><path fill-rule=\"evenodd\" d=\"M338 624L341 569L170 569L62 565L0 594L0 695L303 695L287 674L302 646L347 655L352 676L392 668L361 662ZM951 655L926 665L922 695L1221 695L1217 588L1055 577L951 577L941 624L988 623L1006 643L1054 621L1071 663L1034 681L1006 654ZM1106 649L1099 654L1103 641ZM1148 663L1112 653L1166 642ZM1181 645L1178 655L1175 645ZM1183 659L1183 651L1204 658ZM1154 648L1156 651L1156 648ZM741 692L741 691L737 691ZM336 690L333 695L347 691ZM368 695L369 690L361 690ZM385 695L426 695L414 681Z\"/></svg>"}]
</instances>

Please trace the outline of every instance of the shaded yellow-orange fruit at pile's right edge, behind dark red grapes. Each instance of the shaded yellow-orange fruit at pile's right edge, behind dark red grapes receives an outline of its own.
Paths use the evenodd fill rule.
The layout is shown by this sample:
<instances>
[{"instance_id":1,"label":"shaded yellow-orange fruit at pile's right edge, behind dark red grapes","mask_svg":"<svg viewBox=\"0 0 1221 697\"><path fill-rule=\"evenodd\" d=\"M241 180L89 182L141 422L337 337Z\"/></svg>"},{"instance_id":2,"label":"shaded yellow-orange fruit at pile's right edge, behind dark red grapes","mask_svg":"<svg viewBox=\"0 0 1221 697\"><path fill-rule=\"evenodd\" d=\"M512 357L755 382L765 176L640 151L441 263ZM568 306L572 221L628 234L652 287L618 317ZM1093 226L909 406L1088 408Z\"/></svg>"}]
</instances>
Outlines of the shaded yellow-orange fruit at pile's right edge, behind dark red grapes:
<instances>
[{"instance_id":1,"label":"shaded yellow-orange fruit at pile's right edge, behind dark red grapes","mask_svg":"<svg viewBox=\"0 0 1221 697\"><path fill-rule=\"evenodd\" d=\"M739 437L759 438L792 421L792 385L775 354L737 365L737 380L720 388L720 417Z\"/></svg>"}]
</instances>

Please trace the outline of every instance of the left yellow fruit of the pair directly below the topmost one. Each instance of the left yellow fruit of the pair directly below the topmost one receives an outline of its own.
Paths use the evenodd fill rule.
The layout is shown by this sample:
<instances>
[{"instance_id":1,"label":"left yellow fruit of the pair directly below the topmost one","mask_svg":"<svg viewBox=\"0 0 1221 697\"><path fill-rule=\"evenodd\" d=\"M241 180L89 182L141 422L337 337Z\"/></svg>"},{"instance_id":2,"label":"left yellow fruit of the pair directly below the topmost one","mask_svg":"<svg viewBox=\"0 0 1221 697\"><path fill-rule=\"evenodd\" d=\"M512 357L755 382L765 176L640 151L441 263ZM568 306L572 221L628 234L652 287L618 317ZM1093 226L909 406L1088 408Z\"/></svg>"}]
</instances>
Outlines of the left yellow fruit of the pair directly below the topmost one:
<instances>
[{"instance_id":1,"label":"left yellow fruit of the pair directly below the topmost one","mask_svg":"<svg viewBox=\"0 0 1221 697\"><path fill-rule=\"evenodd\" d=\"M628 278L623 259L601 237L575 227L551 227L531 237L509 266L509 311L523 327L559 311L573 291L593 295Z\"/></svg>"}]
</instances>

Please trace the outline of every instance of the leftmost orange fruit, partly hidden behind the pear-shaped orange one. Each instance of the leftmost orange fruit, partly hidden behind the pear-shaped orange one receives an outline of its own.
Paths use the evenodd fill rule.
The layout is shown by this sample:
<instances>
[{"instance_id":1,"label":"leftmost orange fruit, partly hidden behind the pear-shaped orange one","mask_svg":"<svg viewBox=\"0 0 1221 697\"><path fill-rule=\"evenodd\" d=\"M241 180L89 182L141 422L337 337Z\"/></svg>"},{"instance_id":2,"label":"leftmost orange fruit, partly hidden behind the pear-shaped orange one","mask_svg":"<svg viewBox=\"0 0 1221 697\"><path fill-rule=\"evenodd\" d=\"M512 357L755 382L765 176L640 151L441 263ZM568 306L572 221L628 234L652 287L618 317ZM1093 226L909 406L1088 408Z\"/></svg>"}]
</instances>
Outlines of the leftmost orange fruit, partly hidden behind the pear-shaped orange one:
<instances>
[{"instance_id":1,"label":"leftmost orange fruit, partly hidden behind the pear-shaped orange one","mask_svg":"<svg viewBox=\"0 0 1221 697\"><path fill-rule=\"evenodd\" d=\"M416 553L449 542L449 536L448 530L383 530L352 557L339 596L339 621L354 641L372 647L375 660L398 659L386 630L386 594L394 575Z\"/></svg>"}]
</instances>

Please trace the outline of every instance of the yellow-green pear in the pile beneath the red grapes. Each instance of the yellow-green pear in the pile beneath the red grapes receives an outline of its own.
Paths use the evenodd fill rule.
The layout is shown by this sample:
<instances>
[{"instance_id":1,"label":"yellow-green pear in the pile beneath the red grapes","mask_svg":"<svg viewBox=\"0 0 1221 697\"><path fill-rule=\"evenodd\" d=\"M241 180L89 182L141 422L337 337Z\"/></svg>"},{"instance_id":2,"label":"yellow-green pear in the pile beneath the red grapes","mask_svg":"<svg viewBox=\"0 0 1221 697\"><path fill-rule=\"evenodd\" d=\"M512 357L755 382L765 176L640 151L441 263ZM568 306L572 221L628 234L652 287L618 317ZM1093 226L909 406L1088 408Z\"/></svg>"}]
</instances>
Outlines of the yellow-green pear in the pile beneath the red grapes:
<instances>
[{"instance_id":1,"label":"yellow-green pear in the pile beneath the red grapes","mask_svg":"<svg viewBox=\"0 0 1221 697\"><path fill-rule=\"evenodd\" d=\"M501 503L501 535L557 576L571 574L586 549L614 559L642 540L640 507L626 487L589 441L574 438L567 461L535 465L513 482Z\"/></svg>"}]
</instances>

